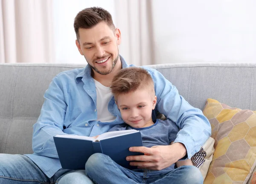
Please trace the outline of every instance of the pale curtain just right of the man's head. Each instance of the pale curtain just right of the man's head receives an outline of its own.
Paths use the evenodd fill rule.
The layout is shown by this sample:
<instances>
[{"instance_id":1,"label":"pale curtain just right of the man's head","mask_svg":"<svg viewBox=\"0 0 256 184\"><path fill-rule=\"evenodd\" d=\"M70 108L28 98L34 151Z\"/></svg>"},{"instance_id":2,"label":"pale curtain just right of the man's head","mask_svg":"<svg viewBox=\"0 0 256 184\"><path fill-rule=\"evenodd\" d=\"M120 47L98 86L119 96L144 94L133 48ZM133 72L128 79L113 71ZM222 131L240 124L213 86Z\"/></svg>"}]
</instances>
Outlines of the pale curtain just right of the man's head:
<instances>
[{"instance_id":1,"label":"pale curtain just right of the man's head","mask_svg":"<svg viewBox=\"0 0 256 184\"><path fill-rule=\"evenodd\" d=\"M115 0L120 54L134 65L156 64L151 0Z\"/></svg>"}]
</instances>

